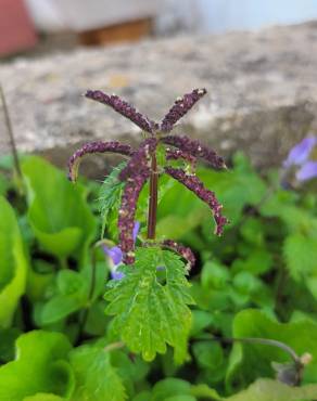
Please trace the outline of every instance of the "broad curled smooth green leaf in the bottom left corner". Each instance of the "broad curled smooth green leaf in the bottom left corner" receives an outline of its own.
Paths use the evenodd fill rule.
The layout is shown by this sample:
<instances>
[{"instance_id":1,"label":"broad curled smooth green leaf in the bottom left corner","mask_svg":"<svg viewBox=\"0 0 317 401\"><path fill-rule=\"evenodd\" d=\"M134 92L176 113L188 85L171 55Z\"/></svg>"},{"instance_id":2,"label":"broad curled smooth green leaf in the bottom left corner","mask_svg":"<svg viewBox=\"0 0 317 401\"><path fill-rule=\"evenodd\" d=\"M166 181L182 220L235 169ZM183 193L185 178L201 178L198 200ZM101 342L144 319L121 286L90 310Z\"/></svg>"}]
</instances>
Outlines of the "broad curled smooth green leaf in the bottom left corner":
<instances>
[{"instance_id":1,"label":"broad curled smooth green leaf in the bottom left corner","mask_svg":"<svg viewBox=\"0 0 317 401\"><path fill-rule=\"evenodd\" d=\"M0 367L0 400L21 401L38 392L69 397L74 379L66 362L71 344L60 333L23 334L16 340L16 359Z\"/></svg>"}]
</instances>

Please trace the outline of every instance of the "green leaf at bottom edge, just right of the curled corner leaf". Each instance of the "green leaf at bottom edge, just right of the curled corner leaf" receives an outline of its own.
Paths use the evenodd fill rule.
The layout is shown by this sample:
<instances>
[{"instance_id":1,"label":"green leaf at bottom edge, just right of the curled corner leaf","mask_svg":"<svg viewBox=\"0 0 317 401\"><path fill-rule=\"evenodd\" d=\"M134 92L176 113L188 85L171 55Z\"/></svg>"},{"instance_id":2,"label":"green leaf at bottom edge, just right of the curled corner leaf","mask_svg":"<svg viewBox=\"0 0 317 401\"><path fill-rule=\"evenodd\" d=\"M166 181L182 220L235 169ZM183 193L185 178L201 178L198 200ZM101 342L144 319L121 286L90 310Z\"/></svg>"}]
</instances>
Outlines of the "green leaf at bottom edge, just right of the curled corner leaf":
<instances>
[{"instance_id":1,"label":"green leaf at bottom edge, just right of the curled corner leaf","mask_svg":"<svg viewBox=\"0 0 317 401\"><path fill-rule=\"evenodd\" d=\"M111 354L102 348L83 346L69 354L75 372L73 401L124 401L123 380L111 363Z\"/></svg>"}]
</instances>

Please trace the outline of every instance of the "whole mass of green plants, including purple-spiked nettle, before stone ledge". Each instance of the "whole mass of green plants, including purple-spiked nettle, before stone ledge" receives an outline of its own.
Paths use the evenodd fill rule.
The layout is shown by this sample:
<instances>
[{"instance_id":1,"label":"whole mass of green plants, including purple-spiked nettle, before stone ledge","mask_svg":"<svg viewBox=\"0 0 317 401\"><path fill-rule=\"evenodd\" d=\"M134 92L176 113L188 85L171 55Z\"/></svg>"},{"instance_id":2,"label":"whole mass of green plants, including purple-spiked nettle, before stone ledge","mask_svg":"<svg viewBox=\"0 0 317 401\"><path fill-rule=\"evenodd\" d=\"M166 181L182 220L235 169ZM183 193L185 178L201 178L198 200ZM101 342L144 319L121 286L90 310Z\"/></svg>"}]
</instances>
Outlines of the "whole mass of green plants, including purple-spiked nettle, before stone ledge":
<instances>
[{"instance_id":1,"label":"whole mass of green plants, including purple-spiked nettle, before stone ledge","mask_svg":"<svg viewBox=\"0 0 317 401\"><path fill-rule=\"evenodd\" d=\"M74 154L124 155L101 184L0 159L0 400L317 399L316 139L225 168L170 133L204 93L155 124L88 91L144 135Z\"/></svg>"}]
</instances>

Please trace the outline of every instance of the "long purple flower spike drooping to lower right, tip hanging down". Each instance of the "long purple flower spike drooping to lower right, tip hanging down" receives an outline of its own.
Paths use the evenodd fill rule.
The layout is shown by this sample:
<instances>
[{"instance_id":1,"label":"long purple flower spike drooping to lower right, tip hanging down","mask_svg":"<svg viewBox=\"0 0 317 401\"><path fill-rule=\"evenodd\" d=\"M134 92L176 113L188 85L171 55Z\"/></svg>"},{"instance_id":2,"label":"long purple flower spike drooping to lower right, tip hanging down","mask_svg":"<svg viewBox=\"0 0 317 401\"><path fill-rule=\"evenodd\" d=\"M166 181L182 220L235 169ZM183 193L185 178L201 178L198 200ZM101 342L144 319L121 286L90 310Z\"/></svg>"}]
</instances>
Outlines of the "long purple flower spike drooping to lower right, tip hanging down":
<instances>
[{"instance_id":1,"label":"long purple flower spike drooping to lower right, tip hanging down","mask_svg":"<svg viewBox=\"0 0 317 401\"><path fill-rule=\"evenodd\" d=\"M223 205L218 203L215 193L207 190L196 176L189 176L183 170L173 167L165 167L165 171L210 206L216 222L215 234L221 235L228 219L221 215Z\"/></svg>"}]
</instances>

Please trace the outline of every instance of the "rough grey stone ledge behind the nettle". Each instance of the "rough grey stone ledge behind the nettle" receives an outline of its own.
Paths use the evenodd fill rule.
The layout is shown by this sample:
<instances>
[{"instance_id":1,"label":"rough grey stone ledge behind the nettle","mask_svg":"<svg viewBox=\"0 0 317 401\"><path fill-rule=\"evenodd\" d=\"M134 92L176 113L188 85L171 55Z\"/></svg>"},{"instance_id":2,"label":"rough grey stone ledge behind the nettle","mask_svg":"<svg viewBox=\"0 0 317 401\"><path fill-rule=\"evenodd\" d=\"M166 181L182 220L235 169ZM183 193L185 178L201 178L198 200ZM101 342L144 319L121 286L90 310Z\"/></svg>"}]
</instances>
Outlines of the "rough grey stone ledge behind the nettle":
<instances>
[{"instance_id":1,"label":"rough grey stone ledge behind the nettle","mask_svg":"<svg viewBox=\"0 0 317 401\"><path fill-rule=\"evenodd\" d=\"M267 167L316 126L316 47L312 22L20 59L0 66L0 79L18 150L61 166L83 142L140 139L130 121L83 98L86 89L115 92L161 119L177 95L205 87L208 94L175 132L201 138L225 155L242 148ZM4 154L1 120L0 132Z\"/></svg>"}]
</instances>

